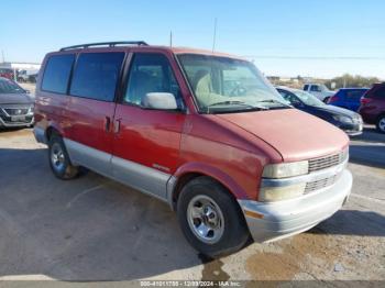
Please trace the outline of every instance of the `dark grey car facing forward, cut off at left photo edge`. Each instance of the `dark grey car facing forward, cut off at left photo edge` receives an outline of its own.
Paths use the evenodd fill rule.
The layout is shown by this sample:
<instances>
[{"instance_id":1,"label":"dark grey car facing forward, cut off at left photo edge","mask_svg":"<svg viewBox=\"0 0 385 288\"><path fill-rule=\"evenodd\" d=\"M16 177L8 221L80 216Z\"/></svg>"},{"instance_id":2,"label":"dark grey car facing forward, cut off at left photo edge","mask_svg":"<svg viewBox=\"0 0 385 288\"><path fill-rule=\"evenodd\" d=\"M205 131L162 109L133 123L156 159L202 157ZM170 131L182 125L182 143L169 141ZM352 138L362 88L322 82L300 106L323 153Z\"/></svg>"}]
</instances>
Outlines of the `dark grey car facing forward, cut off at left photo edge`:
<instances>
[{"instance_id":1,"label":"dark grey car facing forward, cut off at left photo edge","mask_svg":"<svg viewBox=\"0 0 385 288\"><path fill-rule=\"evenodd\" d=\"M0 77L0 129L33 125L34 100L14 81Z\"/></svg>"}]
</instances>

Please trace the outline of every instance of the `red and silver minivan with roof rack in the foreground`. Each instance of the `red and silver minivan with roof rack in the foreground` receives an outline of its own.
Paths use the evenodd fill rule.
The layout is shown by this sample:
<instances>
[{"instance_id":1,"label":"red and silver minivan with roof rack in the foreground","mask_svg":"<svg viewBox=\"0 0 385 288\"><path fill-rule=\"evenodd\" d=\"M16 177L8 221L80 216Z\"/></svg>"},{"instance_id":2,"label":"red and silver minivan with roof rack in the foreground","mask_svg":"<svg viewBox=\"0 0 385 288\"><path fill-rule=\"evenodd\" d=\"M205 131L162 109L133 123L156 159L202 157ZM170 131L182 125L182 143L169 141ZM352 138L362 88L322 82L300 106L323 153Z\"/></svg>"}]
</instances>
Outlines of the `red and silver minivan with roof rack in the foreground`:
<instances>
[{"instance_id":1,"label":"red and silver minivan with roof rack in the foreground","mask_svg":"<svg viewBox=\"0 0 385 288\"><path fill-rule=\"evenodd\" d=\"M144 42L62 48L44 59L35 122L58 178L84 166L168 202L212 257L317 225L352 187L348 136L227 54Z\"/></svg>"}]
</instances>

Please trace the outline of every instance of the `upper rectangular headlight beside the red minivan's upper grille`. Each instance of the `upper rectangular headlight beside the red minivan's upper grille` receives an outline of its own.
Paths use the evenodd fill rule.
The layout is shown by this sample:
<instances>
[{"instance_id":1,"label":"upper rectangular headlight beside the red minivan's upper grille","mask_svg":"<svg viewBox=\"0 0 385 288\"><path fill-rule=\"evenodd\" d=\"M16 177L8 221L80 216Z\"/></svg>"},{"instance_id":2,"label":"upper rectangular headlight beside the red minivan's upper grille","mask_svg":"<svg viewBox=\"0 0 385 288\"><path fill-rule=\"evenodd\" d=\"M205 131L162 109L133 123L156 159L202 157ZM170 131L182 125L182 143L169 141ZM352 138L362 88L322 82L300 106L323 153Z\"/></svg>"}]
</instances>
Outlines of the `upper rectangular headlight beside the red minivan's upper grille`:
<instances>
[{"instance_id":1,"label":"upper rectangular headlight beside the red minivan's upper grille","mask_svg":"<svg viewBox=\"0 0 385 288\"><path fill-rule=\"evenodd\" d=\"M286 178L308 174L309 163L307 160L279 163L266 165L263 169L264 178Z\"/></svg>"}]
</instances>

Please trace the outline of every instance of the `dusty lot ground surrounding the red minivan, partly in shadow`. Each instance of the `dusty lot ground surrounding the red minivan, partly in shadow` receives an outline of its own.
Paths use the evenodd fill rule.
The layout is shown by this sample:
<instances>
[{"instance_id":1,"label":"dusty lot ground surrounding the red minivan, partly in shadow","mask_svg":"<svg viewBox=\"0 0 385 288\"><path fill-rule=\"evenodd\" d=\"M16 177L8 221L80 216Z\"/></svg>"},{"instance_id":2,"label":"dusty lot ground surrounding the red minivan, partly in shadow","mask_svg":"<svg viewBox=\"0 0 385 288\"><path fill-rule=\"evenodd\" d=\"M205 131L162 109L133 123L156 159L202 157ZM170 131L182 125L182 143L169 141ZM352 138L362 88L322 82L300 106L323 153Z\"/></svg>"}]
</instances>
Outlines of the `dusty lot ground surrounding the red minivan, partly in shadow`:
<instances>
[{"instance_id":1,"label":"dusty lot ground surrounding the red minivan, partly in shadow","mask_svg":"<svg viewBox=\"0 0 385 288\"><path fill-rule=\"evenodd\" d=\"M385 135L351 143L349 203L306 233L210 261L153 198L94 173L62 181L31 130L0 132L0 278L385 280ZM1 286L1 285L0 285Z\"/></svg>"}]
</instances>

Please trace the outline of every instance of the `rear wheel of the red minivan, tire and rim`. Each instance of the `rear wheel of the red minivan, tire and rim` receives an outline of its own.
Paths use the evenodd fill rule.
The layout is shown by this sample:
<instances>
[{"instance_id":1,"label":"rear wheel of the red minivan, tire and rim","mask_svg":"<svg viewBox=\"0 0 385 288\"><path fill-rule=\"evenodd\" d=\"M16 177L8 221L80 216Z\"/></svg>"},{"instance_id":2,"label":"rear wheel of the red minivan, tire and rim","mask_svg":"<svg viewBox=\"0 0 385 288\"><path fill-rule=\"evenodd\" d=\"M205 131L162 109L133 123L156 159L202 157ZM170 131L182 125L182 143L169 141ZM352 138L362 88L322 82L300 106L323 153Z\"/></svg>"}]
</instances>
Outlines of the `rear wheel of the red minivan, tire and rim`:
<instances>
[{"instance_id":1,"label":"rear wheel of the red minivan, tire and rim","mask_svg":"<svg viewBox=\"0 0 385 288\"><path fill-rule=\"evenodd\" d=\"M62 180L73 179L79 174L79 167L70 163L63 139L56 134L52 135L50 139L48 160L52 171Z\"/></svg>"}]
</instances>

